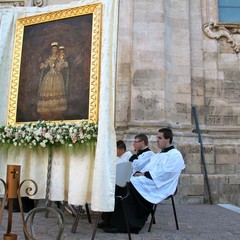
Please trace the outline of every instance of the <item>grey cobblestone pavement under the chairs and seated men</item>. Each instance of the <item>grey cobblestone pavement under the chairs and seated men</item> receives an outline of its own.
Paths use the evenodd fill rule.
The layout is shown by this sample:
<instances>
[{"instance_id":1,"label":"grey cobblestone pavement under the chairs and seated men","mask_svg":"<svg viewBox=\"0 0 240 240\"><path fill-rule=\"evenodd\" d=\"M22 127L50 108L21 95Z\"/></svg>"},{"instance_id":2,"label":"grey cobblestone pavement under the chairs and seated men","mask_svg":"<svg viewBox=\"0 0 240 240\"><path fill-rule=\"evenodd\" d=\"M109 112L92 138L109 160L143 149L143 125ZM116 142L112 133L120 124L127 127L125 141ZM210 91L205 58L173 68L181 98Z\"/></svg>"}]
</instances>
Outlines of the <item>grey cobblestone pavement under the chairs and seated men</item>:
<instances>
[{"instance_id":1,"label":"grey cobblestone pavement under the chairs and seated men","mask_svg":"<svg viewBox=\"0 0 240 240\"><path fill-rule=\"evenodd\" d=\"M151 233L147 232L149 222L139 234L132 234L133 240L239 240L240 239L240 213L222 208L218 205L176 205L179 228L177 231L174 222L171 205L159 205L156 212L157 223L153 225ZM93 223L96 214L92 213ZM89 224L86 215L82 215L77 232L71 233L74 218L67 212L65 227L61 240L89 240L94 224ZM0 226L0 239L7 229L7 211ZM36 217L35 233L39 234L37 240L53 240L56 221L49 216L39 215ZM13 214L12 233L18 235L18 240L24 240L20 213ZM41 237L40 237L41 235ZM96 240L122 240L128 239L127 234L109 234L101 229L97 230Z\"/></svg>"}]
</instances>

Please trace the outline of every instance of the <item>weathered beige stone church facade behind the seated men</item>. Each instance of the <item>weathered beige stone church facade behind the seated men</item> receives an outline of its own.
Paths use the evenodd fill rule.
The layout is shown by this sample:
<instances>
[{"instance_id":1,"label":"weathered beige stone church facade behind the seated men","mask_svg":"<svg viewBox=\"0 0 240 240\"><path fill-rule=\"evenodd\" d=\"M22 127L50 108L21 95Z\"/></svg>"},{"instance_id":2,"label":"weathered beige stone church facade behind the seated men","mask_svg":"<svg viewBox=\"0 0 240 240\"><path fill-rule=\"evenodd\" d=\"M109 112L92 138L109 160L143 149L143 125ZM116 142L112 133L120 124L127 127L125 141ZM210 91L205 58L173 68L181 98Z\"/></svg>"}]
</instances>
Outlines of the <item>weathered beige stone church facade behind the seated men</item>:
<instances>
[{"instance_id":1,"label":"weathered beige stone church facade behind the seated men","mask_svg":"<svg viewBox=\"0 0 240 240\"><path fill-rule=\"evenodd\" d=\"M12 4L0 2L2 7ZM173 129L186 163L178 202L209 202L195 107L213 203L240 206L239 47L240 24L219 23L217 0L120 1L117 136L132 150L134 136L146 133L157 151L157 130Z\"/></svg>"}]
</instances>

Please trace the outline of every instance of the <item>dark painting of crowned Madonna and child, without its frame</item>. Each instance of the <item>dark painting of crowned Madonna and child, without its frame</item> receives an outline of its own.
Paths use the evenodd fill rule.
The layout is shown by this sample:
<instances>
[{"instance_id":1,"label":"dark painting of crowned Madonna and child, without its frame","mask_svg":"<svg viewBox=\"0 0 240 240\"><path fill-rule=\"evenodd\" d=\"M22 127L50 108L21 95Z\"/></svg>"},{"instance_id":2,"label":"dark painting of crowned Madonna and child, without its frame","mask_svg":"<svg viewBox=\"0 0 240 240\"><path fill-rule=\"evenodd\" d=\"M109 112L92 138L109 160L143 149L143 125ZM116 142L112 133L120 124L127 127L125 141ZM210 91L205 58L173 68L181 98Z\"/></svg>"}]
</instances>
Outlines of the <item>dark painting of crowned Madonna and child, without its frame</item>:
<instances>
[{"instance_id":1,"label":"dark painting of crowned Madonna and child, without its frame","mask_svg":"<svg viewBox=\"0 0 240 240\"><path fill-rule=\"evenodd\" d=\"M24 28L16 122L88 119L92 14Z\"/></svg>"}]
</instances>

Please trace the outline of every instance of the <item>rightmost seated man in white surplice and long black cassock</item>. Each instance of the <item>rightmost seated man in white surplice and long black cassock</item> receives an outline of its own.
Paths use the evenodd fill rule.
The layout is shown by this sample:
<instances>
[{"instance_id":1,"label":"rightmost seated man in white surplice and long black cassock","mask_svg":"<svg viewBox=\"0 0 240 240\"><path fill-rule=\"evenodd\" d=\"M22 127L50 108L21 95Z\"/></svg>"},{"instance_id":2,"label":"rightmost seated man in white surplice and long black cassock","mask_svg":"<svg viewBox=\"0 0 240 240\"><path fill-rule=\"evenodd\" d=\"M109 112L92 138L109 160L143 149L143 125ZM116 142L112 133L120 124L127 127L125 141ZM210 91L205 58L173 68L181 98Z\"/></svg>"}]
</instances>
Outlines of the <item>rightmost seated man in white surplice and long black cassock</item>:
<instances>
[{"instance_id":1,"label":"rightmost seated man in white surplice and long black cassock","mask_svg":"<svg viewBox=\"0 0 240 240\"><path fill-rule=\"evenodd\" d=\"M178 185L181 171L185 168L181 153L172 145L171 129L158 131L157 143L161 152L139 169L130 179L130 194L125 206L130 231L139 233L152 211L153 204L159 203L173 194ZM122 192L126 191L122 188ZM103 213L103 231L110 233L127 232L121 207L116 203L114 212Z\"/></svg>"}]
</instances>

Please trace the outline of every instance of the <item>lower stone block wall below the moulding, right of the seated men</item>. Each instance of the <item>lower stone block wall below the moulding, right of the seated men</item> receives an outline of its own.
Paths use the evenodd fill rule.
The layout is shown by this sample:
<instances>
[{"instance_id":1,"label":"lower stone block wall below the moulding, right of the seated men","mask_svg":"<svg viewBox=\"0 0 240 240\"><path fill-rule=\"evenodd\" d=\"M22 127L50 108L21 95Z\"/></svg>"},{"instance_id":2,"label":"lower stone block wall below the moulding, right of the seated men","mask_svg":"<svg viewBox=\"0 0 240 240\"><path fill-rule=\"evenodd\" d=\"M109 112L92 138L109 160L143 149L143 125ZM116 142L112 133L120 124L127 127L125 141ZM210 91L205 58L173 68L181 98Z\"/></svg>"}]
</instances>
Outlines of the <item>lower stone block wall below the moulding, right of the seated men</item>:
<instances>
[{"instance_id":1,"label":"lower stone block wall below the moulding, right of the seated men","mask_svg":"<svg viewBox=\"0 0 240 240\"><path fill-rule=\"evenodd\" d=\"M186 169L180 180L181 202L209 202L204 169L198 145L179 145L183 153ZM233 203L239 201L239 146L207 145L204 156L213 203Z\"/></svg>"}]
</instances>

